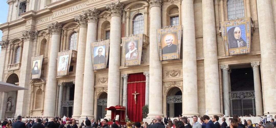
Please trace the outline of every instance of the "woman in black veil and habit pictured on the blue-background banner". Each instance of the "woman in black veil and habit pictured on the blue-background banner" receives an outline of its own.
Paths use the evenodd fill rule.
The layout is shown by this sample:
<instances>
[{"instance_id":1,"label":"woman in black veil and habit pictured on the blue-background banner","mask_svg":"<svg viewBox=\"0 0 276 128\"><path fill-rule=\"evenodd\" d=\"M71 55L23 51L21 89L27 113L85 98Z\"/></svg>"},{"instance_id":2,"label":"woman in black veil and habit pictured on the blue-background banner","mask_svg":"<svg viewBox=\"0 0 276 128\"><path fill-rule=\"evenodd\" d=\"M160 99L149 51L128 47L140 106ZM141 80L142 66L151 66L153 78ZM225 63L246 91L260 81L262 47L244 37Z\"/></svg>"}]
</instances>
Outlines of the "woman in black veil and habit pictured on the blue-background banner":
<instances>
[{"instance_id":1,"label":"woman in black veil and habit pictured on the blue-background banner","mask_svg":"<svg viewBox=\"0 0 276 128\"><path fill-rule=\"evenodd\" d=\"M230 28L227 32L228 48L238 48L246 46L246 42L241 38L240 27Z\"/></svg>"}]
</instances>

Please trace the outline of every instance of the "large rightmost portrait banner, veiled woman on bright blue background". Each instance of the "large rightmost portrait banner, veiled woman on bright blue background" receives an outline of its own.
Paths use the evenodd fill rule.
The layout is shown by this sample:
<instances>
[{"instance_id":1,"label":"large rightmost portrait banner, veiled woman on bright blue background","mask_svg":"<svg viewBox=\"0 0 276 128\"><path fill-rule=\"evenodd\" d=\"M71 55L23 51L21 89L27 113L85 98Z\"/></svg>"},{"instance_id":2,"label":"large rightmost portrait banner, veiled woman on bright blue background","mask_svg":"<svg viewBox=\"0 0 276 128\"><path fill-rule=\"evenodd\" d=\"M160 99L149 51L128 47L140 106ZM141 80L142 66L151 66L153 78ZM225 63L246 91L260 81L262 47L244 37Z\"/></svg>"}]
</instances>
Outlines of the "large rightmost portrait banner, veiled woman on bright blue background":
<instances>
[{"instance_id":1,"label":"large rightmost portrait banner, veiled woman on bright blue background","mask_svg":"<svg viewBox=\"0 0 276 128\"><path fill-rule=\"evenodd\" d=\"M225 56L250 53L250 17L221 22L221 33Z\"/></svg>"}]
</instances>

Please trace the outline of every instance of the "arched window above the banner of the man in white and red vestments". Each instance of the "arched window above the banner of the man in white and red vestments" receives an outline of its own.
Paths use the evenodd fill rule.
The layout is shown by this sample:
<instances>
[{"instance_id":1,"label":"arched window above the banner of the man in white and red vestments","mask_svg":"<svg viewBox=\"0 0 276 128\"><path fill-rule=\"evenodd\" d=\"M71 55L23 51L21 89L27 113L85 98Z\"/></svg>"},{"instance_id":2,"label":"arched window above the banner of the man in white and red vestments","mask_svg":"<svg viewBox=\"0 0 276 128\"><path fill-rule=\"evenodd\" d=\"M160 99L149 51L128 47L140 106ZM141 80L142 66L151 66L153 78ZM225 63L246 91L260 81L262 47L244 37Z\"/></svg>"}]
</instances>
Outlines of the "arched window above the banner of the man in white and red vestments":
<instances>
[{"instance_id":1,"label":"arched window above the banner of the man in white and red vestments","mask_svg":"<svg viewBox=\"0 0 276 128\"><path fill-rule=\"evenodd\" d=\"M139 13L137 14L133 20L133 34L141 34L144 33L144 15Z\"/></svg>"}]
</instances>

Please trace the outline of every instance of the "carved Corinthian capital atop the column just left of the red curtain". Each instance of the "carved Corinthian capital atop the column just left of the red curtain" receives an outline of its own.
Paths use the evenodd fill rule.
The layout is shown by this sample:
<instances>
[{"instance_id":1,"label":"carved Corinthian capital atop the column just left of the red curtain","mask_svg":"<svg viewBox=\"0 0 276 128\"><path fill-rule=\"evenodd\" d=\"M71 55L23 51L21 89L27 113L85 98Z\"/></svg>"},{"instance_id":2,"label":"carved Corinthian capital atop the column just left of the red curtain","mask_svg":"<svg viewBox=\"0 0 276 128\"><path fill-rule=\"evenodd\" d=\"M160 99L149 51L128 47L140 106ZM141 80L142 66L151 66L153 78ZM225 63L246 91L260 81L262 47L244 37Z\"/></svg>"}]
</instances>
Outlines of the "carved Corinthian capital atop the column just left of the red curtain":
<instances>
[{"instance_id":1,"label":"carved Corinthian capital atop the column just left of the red curtain","mask_svg":"<svg viewBox=\"0 0 276 128\"><path fill-rule=\"evenodd\" d=\"M110 4L106 4L105 6L106 6L106 9L110 11L111 17L112 16L121 17L124 4L121 4L119 0L117 2L111 2Z\"/></svg>"}]
</instances>

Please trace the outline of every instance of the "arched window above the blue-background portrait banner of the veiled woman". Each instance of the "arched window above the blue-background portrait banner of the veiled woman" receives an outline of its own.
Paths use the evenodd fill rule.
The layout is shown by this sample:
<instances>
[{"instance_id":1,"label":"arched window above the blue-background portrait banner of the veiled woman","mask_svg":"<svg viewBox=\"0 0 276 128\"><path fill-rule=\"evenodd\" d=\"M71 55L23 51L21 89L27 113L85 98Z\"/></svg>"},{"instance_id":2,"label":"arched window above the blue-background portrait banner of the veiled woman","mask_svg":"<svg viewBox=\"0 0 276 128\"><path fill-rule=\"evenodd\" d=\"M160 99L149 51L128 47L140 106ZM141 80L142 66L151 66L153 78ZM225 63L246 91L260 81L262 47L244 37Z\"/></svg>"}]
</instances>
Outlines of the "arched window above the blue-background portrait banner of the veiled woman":
<instances>
[{"instance_id":1,"label":"arched window above the blue-background portrait banner of the veiled woman","mask_svg":"<svg viewBox=\"0 0 276 128\"><path fill-rule=\"evenodd\" d=\"M244 17L243 0L228 0L227 15L228 19Z\"/></svg>"}]
</instances>

